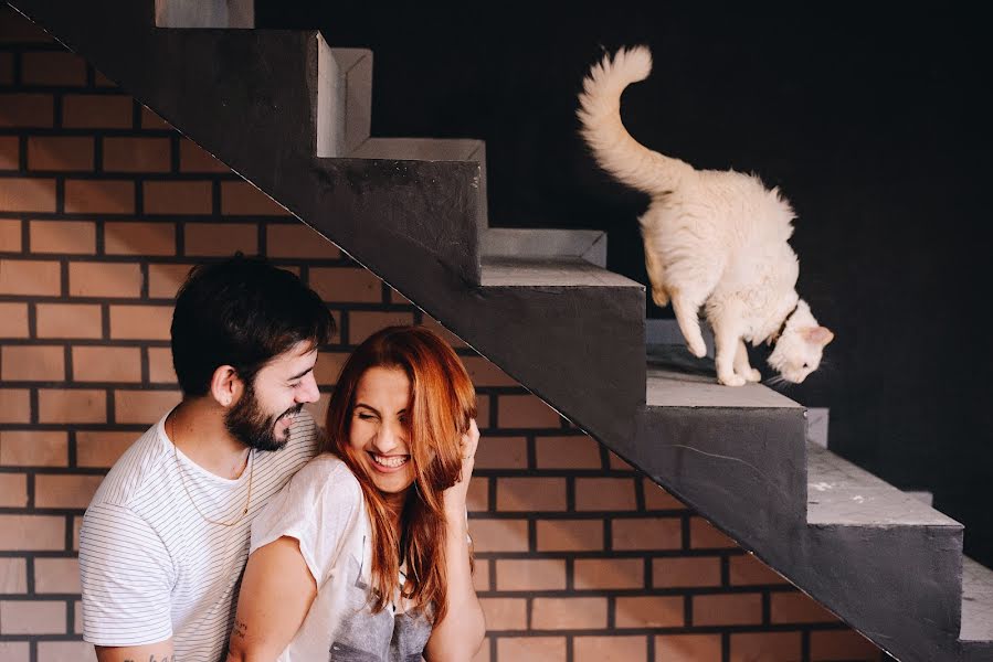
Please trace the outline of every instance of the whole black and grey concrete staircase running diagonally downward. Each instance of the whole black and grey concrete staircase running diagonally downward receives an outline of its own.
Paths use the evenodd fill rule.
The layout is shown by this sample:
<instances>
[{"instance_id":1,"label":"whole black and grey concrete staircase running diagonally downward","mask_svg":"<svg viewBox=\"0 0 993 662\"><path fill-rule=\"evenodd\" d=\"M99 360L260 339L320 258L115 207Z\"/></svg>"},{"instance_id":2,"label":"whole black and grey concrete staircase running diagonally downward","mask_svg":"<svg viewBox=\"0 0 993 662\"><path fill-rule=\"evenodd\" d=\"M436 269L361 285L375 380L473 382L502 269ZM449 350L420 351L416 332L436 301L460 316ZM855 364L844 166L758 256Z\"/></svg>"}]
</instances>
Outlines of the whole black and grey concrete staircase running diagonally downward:
<instances>
[{"instance_id":1,"label":"whole black and grey concrete staircase running diagonally downward","mask_svg":"<svg viewBox=\"0 0 993 662\"><path fill-rule=\"evenodd\" d=\"M482 141L370 137L370 52L225 29L237 2L10 4L890 654L993 660L959 523L809 446L796 403L646 346L602 233L490 228Z\"/></svg>"}]
</instances>

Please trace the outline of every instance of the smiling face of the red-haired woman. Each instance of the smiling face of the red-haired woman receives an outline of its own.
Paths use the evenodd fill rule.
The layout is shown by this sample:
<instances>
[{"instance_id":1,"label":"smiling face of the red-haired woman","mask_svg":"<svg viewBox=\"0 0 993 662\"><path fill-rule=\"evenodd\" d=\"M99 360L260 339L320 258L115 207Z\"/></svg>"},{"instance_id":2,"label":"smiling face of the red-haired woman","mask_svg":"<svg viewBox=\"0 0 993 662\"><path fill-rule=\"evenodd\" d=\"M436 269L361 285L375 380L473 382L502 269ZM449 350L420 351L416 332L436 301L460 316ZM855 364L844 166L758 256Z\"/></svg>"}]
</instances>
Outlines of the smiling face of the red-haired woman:
<instances>
[{"instance_id":1,"label":"smiling face of the red-haired woman","mask_svg":"<svg viewBox=\"0 0 993 662\"><path fill-rule=\"evenodd\" d=\"M410 380L399 367L370 367L359 380L349 446L376 487L402 494L414 482L410 457Z\"/></svg>"}]
</instances>

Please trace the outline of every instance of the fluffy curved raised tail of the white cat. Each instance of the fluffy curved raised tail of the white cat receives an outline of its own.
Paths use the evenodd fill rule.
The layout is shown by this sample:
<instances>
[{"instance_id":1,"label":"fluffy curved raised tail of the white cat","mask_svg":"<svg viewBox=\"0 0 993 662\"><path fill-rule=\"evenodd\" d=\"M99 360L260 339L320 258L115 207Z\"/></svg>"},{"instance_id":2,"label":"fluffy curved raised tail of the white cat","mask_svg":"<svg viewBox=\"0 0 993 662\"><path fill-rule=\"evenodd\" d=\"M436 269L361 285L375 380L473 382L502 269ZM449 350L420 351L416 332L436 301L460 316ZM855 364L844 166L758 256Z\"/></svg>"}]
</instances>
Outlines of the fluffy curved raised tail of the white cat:
<instances>
[{"instance_id":1,"label":"fluffy curved raised tail of the white cat","mask_svg":"<svg viewBox=\"0 0 993 662\"><path fill-rule=\"evenodd\" d=\"M631 137L621 121L621 93L652 72L647 46L621 49L590 68L579 95L580 132L601 168L622 183L646 193L674 188L687 163L652 151Z\"/></svg>"}]
</instances>

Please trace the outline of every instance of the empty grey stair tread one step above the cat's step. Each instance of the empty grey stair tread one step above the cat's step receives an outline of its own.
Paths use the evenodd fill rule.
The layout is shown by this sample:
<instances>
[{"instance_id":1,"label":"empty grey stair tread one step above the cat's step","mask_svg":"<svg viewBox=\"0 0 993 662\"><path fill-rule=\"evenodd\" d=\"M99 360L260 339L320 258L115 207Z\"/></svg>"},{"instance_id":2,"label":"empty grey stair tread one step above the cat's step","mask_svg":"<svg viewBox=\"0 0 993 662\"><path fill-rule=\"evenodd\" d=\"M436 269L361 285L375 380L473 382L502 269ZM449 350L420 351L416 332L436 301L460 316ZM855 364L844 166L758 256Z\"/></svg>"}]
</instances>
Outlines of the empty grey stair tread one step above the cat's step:
<instances>
[{"instance_id":1,"label":"empty grey stair tread one step above the cat's step","mask_svg":"<svg viewBox=\"0 0 993 662\"><path fill-rule=\"evenodd\" d=\"M483 257L484 287L632 287L643 288L579 257Z\"/></svg>"}]
</instances>

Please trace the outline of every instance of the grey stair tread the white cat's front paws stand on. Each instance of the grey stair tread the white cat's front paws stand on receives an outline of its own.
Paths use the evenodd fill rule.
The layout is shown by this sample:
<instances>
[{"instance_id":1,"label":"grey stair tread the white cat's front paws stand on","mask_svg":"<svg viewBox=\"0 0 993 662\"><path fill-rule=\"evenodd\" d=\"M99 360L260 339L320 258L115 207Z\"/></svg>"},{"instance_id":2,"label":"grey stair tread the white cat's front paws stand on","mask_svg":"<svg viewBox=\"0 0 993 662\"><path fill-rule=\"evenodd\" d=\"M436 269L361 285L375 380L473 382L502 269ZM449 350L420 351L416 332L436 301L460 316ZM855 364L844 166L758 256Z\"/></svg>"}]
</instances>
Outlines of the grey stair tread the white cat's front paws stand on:
<instances>
[{"instance_id":1,"label":"grey stair tread the white cat's front paws stand on","mask_svg":"<svg viewBox=\"0 0 993 662\"><path fill-rule=\"evenodd\" d=\"M723 386L714 361L683 345L648 345L645 403L649 407L802 408L761 384Z\"/></svg>"}]
</instances>

